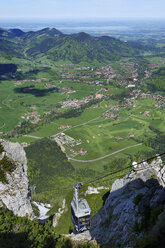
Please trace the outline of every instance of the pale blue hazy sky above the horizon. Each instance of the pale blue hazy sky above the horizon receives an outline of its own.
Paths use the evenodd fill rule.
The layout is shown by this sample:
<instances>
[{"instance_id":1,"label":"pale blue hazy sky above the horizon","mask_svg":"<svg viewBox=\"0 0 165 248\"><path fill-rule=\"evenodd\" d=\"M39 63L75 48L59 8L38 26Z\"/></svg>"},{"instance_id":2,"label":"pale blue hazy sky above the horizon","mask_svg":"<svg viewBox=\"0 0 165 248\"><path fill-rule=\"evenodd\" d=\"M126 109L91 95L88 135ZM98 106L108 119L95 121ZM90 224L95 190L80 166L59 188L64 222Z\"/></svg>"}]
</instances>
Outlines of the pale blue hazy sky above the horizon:
<instances>
[{"instance_id":1,"label":"pale blue hazy sky above the horizon","mask_svg":"<svg viewBox=\"0 0 165 248\"><path fill-rule=\"evenodd\" d=\"M165 19L165 0L0 0L0 19Z\"/></svg>"}]
</instances>

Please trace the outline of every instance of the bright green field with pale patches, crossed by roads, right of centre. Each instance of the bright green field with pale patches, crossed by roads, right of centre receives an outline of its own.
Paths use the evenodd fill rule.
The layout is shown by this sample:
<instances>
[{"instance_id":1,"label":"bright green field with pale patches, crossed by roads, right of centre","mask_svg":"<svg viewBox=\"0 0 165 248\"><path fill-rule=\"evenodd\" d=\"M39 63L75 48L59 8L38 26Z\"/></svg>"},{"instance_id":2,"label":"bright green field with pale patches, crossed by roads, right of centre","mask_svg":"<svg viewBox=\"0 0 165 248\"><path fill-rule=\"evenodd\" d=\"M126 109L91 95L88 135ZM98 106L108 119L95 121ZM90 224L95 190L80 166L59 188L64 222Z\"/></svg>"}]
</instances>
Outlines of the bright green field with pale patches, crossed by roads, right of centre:
<instances>
[{"instance_id":1,"label":"bright green field with pale patches, crossed by roads, right of centre","mask_svg":"<svg viewBox=\"0 0 165 248\"><path fill-rule=\"evenodd\" d=\"M112 101L106 103L111 104ZM74 149L78 151L83 148L87 151L84 156L76 156L76 159L94 159L136 144L137 142L133 138L141 138L146 133L148 136L152 136L150 124L160 127L163 131L164 113L160 108L153 109L154 104L155 101L152 99L138 100L136 108L119 110L118 119L113 120L103 118L102 115L107 108L104 107L105 103L101 103L100 107L86 109L79 117L59 119L44 125L39 131L30 135L50 137L61 131L58 127L71 125L72 128L65 130L65 133L76 140L80 139L82 142ZM145 111L149 111L150 117L143 114ZM131 135L133 138L130 137ZM65 149L70 154L70 147L66 145ZM102 161L99 163L102 164Z\"/></svg>"}]
</instances>

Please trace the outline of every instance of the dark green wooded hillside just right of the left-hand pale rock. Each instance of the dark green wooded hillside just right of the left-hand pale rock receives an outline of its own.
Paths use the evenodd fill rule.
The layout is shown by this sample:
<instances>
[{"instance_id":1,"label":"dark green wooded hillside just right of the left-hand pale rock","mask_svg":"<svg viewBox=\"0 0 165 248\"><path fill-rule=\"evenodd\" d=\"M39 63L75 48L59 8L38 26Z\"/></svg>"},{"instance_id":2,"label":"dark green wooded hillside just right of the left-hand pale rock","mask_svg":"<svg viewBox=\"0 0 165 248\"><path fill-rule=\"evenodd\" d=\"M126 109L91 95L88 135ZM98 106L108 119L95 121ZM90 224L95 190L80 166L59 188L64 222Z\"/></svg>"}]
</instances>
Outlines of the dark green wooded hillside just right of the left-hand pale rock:
<instances>
[{"instance_id":1,"label":"dark green wooded hillside just right of the left-hand pale rock","mask_svg":"<svg viewBox=\"0 0 165 248\"><path fill-rule=\"evenodd\" d=\"M26 154L31 184L36 184L39 192L60 185L60 178L65 180L74 171L60 147L49 139L36 141L26 148Z\"/></svg>"}]
</instances>

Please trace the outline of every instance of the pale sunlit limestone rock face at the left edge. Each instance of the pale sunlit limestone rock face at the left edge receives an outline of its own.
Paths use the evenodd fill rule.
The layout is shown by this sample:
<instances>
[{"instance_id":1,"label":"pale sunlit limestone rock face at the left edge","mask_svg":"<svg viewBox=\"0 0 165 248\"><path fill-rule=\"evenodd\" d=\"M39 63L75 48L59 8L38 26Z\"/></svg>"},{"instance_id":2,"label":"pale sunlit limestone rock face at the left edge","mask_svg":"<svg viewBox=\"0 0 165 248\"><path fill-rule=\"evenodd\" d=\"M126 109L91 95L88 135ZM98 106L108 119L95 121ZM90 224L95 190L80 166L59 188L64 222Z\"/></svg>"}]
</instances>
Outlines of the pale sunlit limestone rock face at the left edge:
<instances>
[{"instance_id":1,"label":"pale sunlit limestone rock face at the left edge","mask_svg":"<svg viewBox=\"0 0 165 248\"><path fill-rule=\"evenodd\" d=\"M30 202L25 151L19 143L4 140L0 140L0 143L4 147L0 160L7 156L16 165L12 172L6 173L7 183L0 181L0 207L5 205L15 215L32 218L33 210Z\"/></svg>"}]
</instances>

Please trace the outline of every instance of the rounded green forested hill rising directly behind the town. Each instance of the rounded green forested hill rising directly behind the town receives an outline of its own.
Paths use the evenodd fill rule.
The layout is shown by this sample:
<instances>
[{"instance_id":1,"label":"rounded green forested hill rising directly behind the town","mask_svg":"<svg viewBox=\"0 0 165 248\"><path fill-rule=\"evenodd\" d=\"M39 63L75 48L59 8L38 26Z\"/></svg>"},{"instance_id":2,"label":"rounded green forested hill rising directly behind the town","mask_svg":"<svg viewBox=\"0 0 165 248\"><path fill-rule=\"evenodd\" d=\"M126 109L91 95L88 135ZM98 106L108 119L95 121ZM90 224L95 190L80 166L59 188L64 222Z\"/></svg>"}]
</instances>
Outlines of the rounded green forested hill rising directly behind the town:
<instances>
[{"instance_id":1,"label":"rounded green forested hill rising directly behind the town","mask_svg":"<svg viewBox=\"0 0 165 248\"><path fill-rule=\"evenodd\" d=\"M47 55L52 60L69 60L72 63L94 62L104 63L134 55L134 50L126 42L104 36L92 37L86 33L52 36L42 33L31 36L29 56ZM36 40L37 39L37 40Z\"/></svg>"}]
</instances>

